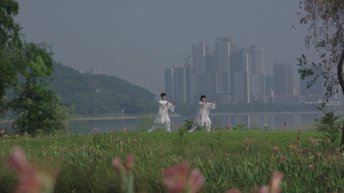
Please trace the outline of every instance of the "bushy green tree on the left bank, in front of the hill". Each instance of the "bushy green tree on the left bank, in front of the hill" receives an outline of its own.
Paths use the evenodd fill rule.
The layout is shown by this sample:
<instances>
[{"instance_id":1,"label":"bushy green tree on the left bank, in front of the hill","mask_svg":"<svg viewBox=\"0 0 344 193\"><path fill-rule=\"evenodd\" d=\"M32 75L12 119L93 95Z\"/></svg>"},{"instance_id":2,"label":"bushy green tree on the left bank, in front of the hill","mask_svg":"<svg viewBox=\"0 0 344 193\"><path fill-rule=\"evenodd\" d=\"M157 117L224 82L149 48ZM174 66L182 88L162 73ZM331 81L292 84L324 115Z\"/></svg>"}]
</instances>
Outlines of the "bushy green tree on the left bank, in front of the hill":
<instances>
[{"instance_id":1,"label":"bushy green tree on the left bank, in front of the hill","mask_svg":"<svg viewBox=\"0 0 344 193\"><path fill-rule=\"evenodd\" d=\"M52 74L52 58L45 48L25 44L27 70L24 81L14 88L14 97L8 103L13 129L19 133L48 134L63 127L67 109L59 102L56 91L47 85Z\"/></svg>"}]
</instances>

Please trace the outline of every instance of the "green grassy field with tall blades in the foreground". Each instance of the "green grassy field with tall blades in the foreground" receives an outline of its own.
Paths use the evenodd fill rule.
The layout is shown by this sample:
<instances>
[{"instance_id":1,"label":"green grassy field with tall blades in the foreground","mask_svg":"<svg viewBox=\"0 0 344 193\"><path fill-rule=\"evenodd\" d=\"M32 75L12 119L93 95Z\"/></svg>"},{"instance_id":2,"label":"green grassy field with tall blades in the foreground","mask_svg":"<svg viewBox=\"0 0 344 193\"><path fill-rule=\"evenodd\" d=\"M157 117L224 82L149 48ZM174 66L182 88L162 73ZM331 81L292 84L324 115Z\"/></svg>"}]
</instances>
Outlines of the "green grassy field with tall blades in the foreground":
<instances>
[{"instance_id":1,"label":"green grassy field with tall blades in the foreground","mask_svg":"<svg viewBox=\"0 0 344 193\"><path fill-rule=\"evenodd\" d=\"M12 192L17 182L16 175L4 164L14 145L21 146L31 162L59 171L55 192L120 192L119 175L111 161L115 157L125 160L130 152L135 153L135 192L165 192L160 170L179 162L187 162L190 168L203 173L205 184L201 192L225 192L230 188L250 191L267 184L274 170L285 173L283 192L344 191L344 157L334 151L339 142L332 146L323 140L313 145L308 140L324 138L320 132L302 132L297 149L289 148L291 141L296 144L295 131L208 134L156 131L0 137L0 192ZM274 150L274 146L280 150ZM315 156L318 152L320 157ZM288 159L283 161L282 155ZM317 166L310 169L309 165L314 163Z\"/></svg>"}]
</instances>

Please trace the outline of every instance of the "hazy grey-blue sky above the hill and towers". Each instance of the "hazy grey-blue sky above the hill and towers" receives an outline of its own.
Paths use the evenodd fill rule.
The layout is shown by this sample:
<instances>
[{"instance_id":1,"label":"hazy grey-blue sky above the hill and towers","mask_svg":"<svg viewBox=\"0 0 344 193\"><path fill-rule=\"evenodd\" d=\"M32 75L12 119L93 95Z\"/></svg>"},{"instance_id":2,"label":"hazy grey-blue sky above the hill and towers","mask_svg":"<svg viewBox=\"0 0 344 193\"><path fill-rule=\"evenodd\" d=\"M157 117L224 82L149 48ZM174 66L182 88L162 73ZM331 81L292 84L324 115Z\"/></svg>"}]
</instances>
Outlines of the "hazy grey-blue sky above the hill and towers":
<instances>
[{"instance_id":1,"label":"hazy grey-blue sky above the hill and towers","mask_svg":"<svg viewBox=\"0 0 344 193\"><path fill-rule=\"evenodd\" d=\"M298 2L20 0L16 20L27 40L54 42L55 60L63 65L106 67L124 79L163 83L165 67L183 66L198 41L214 51L216 37L231 36L237 47L264 48L266 73L273 72L275 58L296 64L302 53L312 55L304 47L307 28L298 24Z\"/></svg>"}]
</instances>

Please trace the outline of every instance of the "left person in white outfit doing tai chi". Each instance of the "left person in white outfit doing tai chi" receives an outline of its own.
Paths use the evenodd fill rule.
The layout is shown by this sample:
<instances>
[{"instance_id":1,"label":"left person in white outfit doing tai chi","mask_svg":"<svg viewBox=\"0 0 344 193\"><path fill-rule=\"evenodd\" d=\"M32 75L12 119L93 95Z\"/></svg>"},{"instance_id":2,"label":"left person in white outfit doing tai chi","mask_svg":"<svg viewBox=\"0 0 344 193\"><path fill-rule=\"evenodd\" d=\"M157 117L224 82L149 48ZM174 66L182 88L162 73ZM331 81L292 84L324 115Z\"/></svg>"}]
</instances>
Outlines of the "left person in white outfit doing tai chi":
<instances>
[{"instance_id":1,"label":"left person in white outfit doing tai chi","mask_svg":"<svg viewBox=\"0 0 344 193\"><path fill-rule=\"evenodd\" d=\"M150 128L150 130L148 130L148 132L154 131L159 124L165 124L166 125L166 131L171 132L170 131L170 121L169 121L167 111L169 109L171 112L174 112L176 102L168 103L167 101L165 101L166 100L166 94L164 92L162 92L160 94L160 96L161 96L161 100L159 101L158 113L155 117L152 128Z\"/></svg>"}]
</instances>

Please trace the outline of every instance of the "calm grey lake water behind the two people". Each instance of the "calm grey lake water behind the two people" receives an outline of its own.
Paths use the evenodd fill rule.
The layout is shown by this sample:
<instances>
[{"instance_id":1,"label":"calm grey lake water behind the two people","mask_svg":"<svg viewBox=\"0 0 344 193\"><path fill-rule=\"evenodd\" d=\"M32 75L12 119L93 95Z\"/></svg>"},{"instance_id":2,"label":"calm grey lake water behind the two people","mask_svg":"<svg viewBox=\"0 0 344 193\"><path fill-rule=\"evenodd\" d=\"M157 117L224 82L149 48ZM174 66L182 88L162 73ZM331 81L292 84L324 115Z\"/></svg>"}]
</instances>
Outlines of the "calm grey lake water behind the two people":
<instances>
[{"instance_id":1,"label":"calm grey lake water behind the two people","mask_svg":"<svg viewBox=\"0 0 344 193\"><path fill-rule=\"evenodd\" d=\"M225 127L227 124L232 126L241 123L246 125L244 128L264 129L265 124L269 125L269 130L307 130L313 127L314 119L319 119L323 114L319 113L289 113L289 114L255 114L255 115L211 115L212 128L217 126ZM194 117L171 117L171 131L176 129L176 124L184 125L184 119ZM94 128L99 132L122 131L122 128L128 128L128 131L148 131L153 118L141 119L116 119L116 120L89 120L89 121L69 121L69 133L92 133ZM286 123L286 126L285 124ZM0 128L10 128L10 123L0 123ZM314 128L314 127L313 127ZM158 129L164 130L164 125Z\"/></svg>"}]
</instances>

